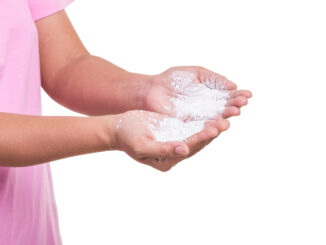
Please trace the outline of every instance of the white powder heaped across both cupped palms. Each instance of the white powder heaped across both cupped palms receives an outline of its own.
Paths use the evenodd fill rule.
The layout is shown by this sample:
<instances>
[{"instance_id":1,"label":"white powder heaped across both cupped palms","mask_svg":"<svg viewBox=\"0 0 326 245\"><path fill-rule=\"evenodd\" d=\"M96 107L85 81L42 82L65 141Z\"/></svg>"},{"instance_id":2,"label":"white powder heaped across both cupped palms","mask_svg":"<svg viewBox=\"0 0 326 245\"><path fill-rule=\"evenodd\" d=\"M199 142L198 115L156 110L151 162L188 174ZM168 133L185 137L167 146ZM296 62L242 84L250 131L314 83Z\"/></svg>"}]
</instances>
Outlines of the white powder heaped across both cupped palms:
<instances>
[{"instance_id":1,"label":"white powder heaped across both cupped palms","mask_svg":"<svg viewBox=\"0 0 326 245\"><path fill-rule=\"evenodd\" d=\"M191 72L174 71L170 84L175 97L171 99L173 108L168 109L176 118L149 120L156 141L181 141L200 132L208 119L222 114L229 98L229 93L217 86L216 78L200 83Z\"/></svg>"}]
</instances>

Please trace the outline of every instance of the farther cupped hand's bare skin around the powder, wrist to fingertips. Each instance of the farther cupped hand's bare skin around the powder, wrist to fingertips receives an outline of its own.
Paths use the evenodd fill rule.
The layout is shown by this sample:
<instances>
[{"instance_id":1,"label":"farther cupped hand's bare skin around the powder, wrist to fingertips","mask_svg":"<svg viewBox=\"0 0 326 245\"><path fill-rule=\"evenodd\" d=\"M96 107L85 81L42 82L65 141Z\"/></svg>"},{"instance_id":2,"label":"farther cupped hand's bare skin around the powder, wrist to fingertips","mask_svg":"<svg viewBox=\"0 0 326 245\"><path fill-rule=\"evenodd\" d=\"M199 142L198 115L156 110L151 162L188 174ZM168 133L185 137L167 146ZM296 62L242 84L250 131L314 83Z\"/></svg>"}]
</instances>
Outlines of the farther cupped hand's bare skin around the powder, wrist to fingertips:
<instances>
[{"instance_id":1,"label":"farther cupped hand's bare skin around the powder, wrist to fingertips","mask_svg":"<svg viewBox=\"0 0 326 245\"><path fill-rule=\"evenodd\" d=\"M175 111L171 105L171 99L175 97L175 93L170 84L171 74L175 71L189 72L193 75L192 82L202 83L209 81L212 87L219 87L229 91L229 99L225 110L222 114L223 118L229 118L240 114L240 108L248 103L251 92L248 90L237 90L235 83L229 81L224 76L209 71L202 67L173 67L165 72L155 75L150 80L150 87L145 95L146 110L158 112L165 115L175 116Z\"/></svg>"}]
</instances>

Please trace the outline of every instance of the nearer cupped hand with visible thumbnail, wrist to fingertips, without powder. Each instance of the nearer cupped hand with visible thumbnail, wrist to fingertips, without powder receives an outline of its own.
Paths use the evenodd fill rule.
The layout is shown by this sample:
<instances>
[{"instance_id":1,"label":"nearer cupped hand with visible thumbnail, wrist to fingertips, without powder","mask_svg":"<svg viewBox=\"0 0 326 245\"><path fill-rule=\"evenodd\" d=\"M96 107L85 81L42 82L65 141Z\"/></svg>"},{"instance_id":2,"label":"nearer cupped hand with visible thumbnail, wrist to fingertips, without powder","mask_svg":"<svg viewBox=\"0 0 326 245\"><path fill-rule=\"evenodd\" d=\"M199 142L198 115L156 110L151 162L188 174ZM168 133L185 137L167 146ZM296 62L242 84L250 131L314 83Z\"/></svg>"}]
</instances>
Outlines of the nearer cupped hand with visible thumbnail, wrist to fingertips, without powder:
<instances>
[{"instance_id":1,"label":"nearer cupped hand with visible thumbnail, wrist to fingertips, without powder","mask_svg":"<svg viewBox=\"0 0 326 245\"><path fill-rule=\"evenodd\" d=\"M166 116L148 111L128 111L115 115L115 129L111 148L122 150L138 162L161 171L168 171L178 162L195 154L208 141L229 127L227 120L209 121L205 128L186 141L157 142L146 126L151 119L163 120Z\"/></svg>"}]
</instances>

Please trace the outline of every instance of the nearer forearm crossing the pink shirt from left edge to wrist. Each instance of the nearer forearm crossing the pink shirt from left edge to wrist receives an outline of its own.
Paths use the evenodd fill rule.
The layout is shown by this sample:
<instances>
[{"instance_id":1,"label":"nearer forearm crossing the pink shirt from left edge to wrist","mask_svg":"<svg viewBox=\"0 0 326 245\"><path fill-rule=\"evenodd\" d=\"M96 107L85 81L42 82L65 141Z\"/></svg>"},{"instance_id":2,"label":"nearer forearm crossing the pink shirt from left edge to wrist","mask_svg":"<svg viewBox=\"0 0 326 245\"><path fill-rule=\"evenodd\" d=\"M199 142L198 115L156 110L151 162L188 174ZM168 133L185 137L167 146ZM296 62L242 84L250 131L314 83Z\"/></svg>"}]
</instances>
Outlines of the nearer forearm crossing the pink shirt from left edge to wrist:
<instances>
[{"instance_id":1,"label":"nearer forearm crossing the pink shirt from left edge to wrist","mask_svg":"<svg viewBox=\"0 0 326 245\"><path fill-rule=\"evenodd\" d=\"M110 149L103 117L41 117L0 113L0 166L29 166Z\"/></svg>"}]
</instances>

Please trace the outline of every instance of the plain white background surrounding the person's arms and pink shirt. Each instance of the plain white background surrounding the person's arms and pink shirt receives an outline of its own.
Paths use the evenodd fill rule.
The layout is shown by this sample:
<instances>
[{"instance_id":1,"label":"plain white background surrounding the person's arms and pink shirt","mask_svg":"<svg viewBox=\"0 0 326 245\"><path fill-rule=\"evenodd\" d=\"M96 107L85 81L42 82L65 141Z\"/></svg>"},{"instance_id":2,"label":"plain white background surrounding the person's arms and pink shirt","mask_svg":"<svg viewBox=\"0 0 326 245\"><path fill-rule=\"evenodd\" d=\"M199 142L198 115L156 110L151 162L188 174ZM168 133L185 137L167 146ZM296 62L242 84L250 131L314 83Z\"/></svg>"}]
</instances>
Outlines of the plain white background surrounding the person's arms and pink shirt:
<instances>
[{"instance_id":1,"label":"plain white background surrounding the person's arms and pink shirt","mask_svg":"<svg viewBox=\"0 0 326 245\"><path fill-rule=\"evenodd\" d=\"M65 245L326 244L325 1L75 1L89 51L200 65L254 97L170 172L121 152L52 163ZM76 115L43 94L45 115Z\"/></svg>"}]
</instances>

